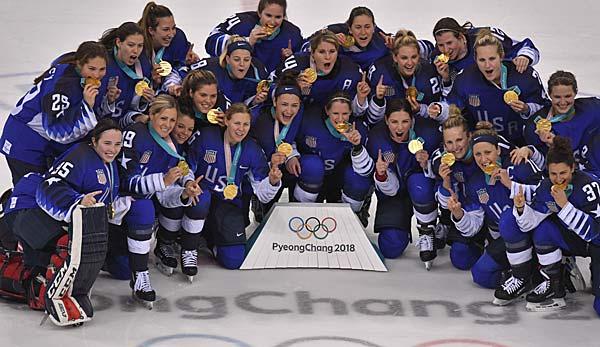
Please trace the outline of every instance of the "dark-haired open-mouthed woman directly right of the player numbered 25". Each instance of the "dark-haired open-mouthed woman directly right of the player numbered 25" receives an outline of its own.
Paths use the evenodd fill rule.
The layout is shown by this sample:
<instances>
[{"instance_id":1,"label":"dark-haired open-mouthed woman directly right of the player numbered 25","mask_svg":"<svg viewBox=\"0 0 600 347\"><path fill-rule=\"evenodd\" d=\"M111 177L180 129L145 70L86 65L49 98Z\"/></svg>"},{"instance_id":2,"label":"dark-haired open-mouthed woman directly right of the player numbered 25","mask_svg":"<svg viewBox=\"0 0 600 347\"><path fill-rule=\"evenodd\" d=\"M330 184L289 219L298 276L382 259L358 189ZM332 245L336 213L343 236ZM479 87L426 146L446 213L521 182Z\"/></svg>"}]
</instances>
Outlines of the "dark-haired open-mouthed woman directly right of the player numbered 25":
<instances>
[{"instance_id":1,"label":"dark-haired open-mouthed woman directly right of the player numbered 25","mask_svg":"<svg viewBox=\"0 0 600 347\"><path fill-rule=\"evenodd\" d=\"M144 54L144 32L133 22L125 22L109 29L100 38L108 50L106 75L102 79L100 95L116 90L118 97L112 104L102 103L97 110L101 116L115 118L122 128L134 122L147 122L144 114L154 100L152 64Z\"/></svg>"}]
</instances>

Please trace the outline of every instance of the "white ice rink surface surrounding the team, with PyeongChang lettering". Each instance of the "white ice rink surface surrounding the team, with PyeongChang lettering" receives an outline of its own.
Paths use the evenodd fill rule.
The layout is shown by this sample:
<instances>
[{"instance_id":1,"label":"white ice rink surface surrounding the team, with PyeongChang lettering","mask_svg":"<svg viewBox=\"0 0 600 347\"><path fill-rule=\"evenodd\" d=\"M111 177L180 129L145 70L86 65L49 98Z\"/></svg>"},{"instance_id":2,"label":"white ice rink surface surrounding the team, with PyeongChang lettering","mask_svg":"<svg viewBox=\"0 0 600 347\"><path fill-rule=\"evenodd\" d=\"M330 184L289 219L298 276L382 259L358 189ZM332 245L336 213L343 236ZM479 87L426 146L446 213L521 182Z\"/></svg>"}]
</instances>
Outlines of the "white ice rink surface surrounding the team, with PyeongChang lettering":
<instances>
[{"instance_id":1,"label":"white ice rink surface surrounding the team, with PyeongChang lettering","mask_svg":"<svg viewBox=\"0 0 600 347\"><path fill-rule=\"evenodd\" d=\"M214 25L256 1L157 1L167 5L195 50ZM544 84L558 69L573 72L581 94L600 94L600 4L597 1L300 1L288 0L288 17L304 36L346 20L357 5L370 7L384 30L412 29L432 40L435 22L453 16L475 26L494 25L514 38L531 37L541 51L535 68ZM0 117L59 54L97 39L123 21L137 21L144 1L6 0L0 11ZM10 173L0 159L0 188ZM248 230L250 234L252 230ZM372 223L368 228L372 234ZM101 275L94 287L94 319L79 328L39 326L42 313L0 299L0 346L600 346L600 323L588 291L568 296L559 313L530 313L524 303L498 308L492 291L475 286L469 272L442 251L424 270L410 246L389 272L349 270L228 271L208 257L188 284L151 266L160 296L153 311L128 304L127 281Z\"/></svg>"}]
</instances>

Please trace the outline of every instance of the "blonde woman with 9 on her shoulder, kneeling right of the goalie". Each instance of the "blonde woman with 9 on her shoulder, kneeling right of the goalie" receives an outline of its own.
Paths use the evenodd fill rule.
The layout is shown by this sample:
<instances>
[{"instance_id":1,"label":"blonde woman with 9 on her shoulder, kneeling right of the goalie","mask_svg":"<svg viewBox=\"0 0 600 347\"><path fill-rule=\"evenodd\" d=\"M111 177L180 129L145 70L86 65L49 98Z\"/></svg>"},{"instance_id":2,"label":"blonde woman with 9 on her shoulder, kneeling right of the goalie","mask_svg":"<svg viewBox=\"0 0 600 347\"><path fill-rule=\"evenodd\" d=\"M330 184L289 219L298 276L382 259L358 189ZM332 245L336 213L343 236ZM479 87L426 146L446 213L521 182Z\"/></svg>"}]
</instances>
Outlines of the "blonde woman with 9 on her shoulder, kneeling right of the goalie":
<instances>
[{"instance_id":1,"label":"blonde woman with 9 on her shoulder, kneeling right of the goalie","mask_svg":"<svg viewBox=\"0 0 600 347\"><path fill-rule=\"evenodd\" d=\"M135 299L151 307L155 291L150 284L148 254L155 218L153 199L168 208L188 206L200 189L189 169L186 172L184 159L170 136L177 120L175 99L159 95L149 113L148 124L136 123L124 131L119 161L122 194L133 198L124 218L132 271L130 287Z\"/></svg>"}]
</instances>

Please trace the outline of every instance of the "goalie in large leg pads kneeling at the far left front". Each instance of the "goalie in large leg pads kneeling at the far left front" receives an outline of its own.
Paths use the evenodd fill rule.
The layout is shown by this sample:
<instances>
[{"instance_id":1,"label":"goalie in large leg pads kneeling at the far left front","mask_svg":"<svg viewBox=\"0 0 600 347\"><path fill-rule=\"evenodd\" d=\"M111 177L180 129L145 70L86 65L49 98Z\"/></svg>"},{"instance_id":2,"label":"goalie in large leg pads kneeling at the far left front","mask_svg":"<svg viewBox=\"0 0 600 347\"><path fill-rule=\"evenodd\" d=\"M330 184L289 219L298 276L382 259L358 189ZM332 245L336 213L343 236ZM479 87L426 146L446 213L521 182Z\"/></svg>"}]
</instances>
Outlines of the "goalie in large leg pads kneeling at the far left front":
<instances>
[{"instance_id":1,"label":"goalie in large leg pads kneeling at the far left front","mask_svg":"<svg viewBox=\"0 0 600 347\"><path fill-rule=\"evenodd\" d=\"M21 285L25 293L14 293L17 294L15 297L24 296L33 309L46 309L51 320L58 325L80 324L90 320L93 315L88 295L104 261L106 219L121 215L126 209L118 196L119 176L117 163L114 162L121 143L118 125L110 119L100 120L91 131L89 143L71 147L43 176L30 173L23 177L16 185L10 198L11 204L5 211L5 218L12 216L8 218L11 220L9 227L24 251L26 271ZM75 207L91 207L98 202L107 207L97 211L99 214L94 226L99 228L90 227L88 230L94 233L94 238L85 235L82 238L81 234L73 237L75 230L67 235L65 231L73 221ZM67 258L66 252L57 254L57 249L67 247L70 258ZM90 249L94 252L90 252ZM77 277L75 274L79 266L73 269L69 265L74 257L85 259L77 264L85 273L77 274ZM60 278L58 274L65 271L70 271L75 277L74 286L68 294L55 296L52 288L63 284L54 280L55 274L56 278ZM5 279L2 279L2 283L5 284ZM19 287L13 286L12 290ZM57 301L75 308L65 313L68 319L63 320L62 315L55 314L53 304Z\"/></svg>"}]
</instances>

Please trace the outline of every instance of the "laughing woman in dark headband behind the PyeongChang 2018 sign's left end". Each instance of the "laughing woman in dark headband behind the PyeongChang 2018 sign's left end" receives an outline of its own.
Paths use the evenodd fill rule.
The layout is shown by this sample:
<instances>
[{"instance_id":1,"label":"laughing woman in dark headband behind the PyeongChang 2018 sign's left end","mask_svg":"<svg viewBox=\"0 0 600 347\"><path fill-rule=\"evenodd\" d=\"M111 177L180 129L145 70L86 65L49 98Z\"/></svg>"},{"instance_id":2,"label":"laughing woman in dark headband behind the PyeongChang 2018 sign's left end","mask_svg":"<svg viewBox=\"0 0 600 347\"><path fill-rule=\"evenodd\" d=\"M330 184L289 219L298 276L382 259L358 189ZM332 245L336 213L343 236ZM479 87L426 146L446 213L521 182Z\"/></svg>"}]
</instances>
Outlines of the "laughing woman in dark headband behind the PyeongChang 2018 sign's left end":
<instances>
[{"instance_id":1,"label":"laughing woman in dark headband behind the PyeongChang 2018 sign's left end","mask_svg":"<svg viewBox=\"0 0 600 347\"><path fill-rule=\"evenodd\" d=\"M302 172L299 153L296 150L296 135L302 122L302 93L292 74L282 76L274 90L273 104L266 104L252 121L250 136L258 142L267 158L275 155L283 159L283 188L292 188L296 177ZM283 189L267 204L252 200L252 211L257 222L279 200ZM291 193L291 192L290 192Z\"/></svg>"}]
</instances>

